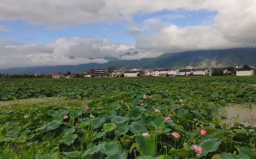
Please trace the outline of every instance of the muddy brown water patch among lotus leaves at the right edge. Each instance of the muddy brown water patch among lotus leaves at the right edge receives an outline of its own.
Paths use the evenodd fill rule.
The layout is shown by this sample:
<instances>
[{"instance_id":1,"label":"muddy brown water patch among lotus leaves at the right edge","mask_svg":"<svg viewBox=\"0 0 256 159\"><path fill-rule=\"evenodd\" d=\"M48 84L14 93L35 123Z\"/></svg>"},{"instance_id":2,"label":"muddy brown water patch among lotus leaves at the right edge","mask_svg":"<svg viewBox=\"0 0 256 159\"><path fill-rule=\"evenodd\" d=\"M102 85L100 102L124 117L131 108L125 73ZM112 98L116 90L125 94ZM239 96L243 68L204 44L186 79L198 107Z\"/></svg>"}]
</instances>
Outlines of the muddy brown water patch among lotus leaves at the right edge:
<instances>
[{"instance_id":1,"label":"muddy brown water patch among lotus leaves at the right edge","mask_svg":"<svg viewBox=\"0 0 256 159\"><path fill-rule=\"evenodd\" d=\"M219 111L221 123L234 125L235 119L246 127L249 125L256 127L256 105L233 104L223 107Z\"/></svg>"}]
</instances>

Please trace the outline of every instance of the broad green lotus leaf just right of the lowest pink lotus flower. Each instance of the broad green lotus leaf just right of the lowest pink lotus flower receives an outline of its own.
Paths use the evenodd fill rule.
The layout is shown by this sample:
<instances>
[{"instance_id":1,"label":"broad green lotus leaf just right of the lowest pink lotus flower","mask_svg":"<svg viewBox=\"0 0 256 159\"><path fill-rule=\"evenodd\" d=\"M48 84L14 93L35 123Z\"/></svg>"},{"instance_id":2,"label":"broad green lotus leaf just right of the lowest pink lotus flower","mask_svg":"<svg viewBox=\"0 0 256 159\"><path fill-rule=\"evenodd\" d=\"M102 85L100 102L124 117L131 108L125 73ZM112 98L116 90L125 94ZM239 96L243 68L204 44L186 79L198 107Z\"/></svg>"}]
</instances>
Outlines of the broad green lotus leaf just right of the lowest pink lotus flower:
<instances>
[{"instance_id":1,"label":"broad green lotus leaf just right of the lowest pink lotus flower","mask_svg":"<svg viewBox=\"0 0 256 159\"><path fill-rule=\"evenodd\" d=\"M219 145L221 144L221 140L219 138L207 139L203 140L199 146L204 150L201 156L206 156L209 152L214 152L219 149Z\"/></svg>"}]
</instances>

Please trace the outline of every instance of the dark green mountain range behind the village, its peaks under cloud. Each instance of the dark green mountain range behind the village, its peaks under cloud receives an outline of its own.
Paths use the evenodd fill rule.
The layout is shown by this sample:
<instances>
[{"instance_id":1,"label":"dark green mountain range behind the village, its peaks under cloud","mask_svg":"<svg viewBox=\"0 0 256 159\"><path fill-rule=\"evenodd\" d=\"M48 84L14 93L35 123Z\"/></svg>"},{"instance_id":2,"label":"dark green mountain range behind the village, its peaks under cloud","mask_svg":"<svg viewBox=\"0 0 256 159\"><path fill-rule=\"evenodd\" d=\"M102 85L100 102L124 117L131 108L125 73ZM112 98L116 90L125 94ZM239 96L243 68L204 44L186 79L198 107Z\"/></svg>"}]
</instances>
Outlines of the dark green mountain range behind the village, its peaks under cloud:
<instances>
[{"instance_id":1,"label":"dark green mountain range behind the village, its peaks under cloud","mask_svg":"<svg viewBox=\"0 0 256 159\"><path fill-rule=\"evenodd\" d=\"M137 54L125 53L122 56L132 56ZM71 57L72 58L72 57ZM108 68L114 66L116 68L180 68L183 69L185 64L198 64L199 68L205 67L223 67L234 66L235 64L256 65L256 48L231 48L223 50L197 50L184 51L176 53L164 53L156 58L142 58L140 60L119 60L109 57L110 61L104 64L88 63L80 65L59 65L59 66L38 66L28 67L28 72L33 73L83 73L90 69ZM27 73L26 67L0 69L1 73Z\"/></svg>"}]
</instances>

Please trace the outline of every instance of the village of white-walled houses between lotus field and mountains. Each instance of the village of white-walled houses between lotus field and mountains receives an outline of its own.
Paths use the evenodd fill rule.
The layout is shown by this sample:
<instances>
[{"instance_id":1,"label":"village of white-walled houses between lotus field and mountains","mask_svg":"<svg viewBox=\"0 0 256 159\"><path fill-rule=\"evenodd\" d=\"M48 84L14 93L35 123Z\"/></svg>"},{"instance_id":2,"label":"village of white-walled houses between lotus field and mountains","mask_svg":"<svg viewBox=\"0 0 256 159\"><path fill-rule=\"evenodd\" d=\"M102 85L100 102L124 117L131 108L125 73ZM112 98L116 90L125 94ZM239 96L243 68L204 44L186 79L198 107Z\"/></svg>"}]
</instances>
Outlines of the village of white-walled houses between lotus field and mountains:
<instances>
[{"instance_id":1,"label":"village of white-walled houses between lotus field and mountains","mask_svg":"<svg viewBox=\"0 0 256 159\"><path fill-rule=\"evenodd\" d=\"M212 68L199 68L196 64L188 64L184 66L184 69L173 68L155 68L146 69L141 67L135 67L132 69L120 68L120 69L91 69L85 71L83 77L85 78L116 78L116 77L175 77L175 76L214 76L214 73L220 73L222 75L234 75L234 71L228 70L232 67L212 67ZM235 65L236 76L252 76L255 75L256 66L248 65ZM52 78L76 78L76 75L64 75L62 73L52 74Z\"/></svg>"}]
</instances>

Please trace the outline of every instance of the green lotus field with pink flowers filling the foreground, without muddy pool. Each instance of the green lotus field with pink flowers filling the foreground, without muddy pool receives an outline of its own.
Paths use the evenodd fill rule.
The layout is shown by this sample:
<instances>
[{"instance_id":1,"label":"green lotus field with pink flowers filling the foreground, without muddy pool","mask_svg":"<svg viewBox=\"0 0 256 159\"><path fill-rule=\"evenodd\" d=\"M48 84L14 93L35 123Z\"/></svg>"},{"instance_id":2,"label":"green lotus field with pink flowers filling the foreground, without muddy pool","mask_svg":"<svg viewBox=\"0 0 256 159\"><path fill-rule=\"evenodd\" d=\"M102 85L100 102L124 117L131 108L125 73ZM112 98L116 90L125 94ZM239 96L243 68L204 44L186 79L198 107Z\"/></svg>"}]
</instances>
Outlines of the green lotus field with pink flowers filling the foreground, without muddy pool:
<instances>
[{"instance_id":1,"label":"green lotus field with pink flowers filling the foreground, without muddy pool","mask_svg":"<svg viewBox=\"0 0 256 159\"><path fill-rule=\"evenodd\" d=\"M250 121L218 115L235 103L254 107L253 84L253 76L0 81L0 158L256 159ZM42 101L20 102L27 98Z\"/></svg>"}]
</instances>

